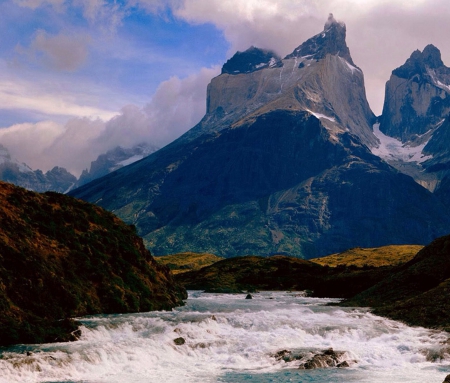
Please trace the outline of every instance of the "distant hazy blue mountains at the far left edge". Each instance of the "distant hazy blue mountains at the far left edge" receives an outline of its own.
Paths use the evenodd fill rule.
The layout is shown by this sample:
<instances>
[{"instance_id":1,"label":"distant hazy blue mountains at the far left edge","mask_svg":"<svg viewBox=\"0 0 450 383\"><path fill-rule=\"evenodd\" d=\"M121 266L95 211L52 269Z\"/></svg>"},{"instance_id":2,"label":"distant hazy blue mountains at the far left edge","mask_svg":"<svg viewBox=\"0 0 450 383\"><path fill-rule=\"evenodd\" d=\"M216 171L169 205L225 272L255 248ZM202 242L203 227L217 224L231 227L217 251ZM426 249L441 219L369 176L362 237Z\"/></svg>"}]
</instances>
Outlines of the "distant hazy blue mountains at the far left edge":
<instances>
[{"instance_id":1,"label":"distant hazy blue mountains at the far left edge","mask_svg":"<svg viewBox=\"0 0 450 383\"><path fill-rule=\"evenodd\" d=\"M46 173L32 170L28 165L12 158L8 149L2 145L0 145L0 180L37 192L52 190L59 193L67 192L77 181L74 175L58 166Z\"/></svg>"}]
</instances>

